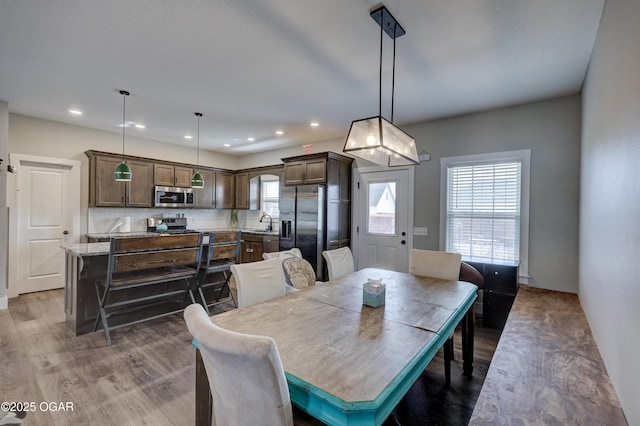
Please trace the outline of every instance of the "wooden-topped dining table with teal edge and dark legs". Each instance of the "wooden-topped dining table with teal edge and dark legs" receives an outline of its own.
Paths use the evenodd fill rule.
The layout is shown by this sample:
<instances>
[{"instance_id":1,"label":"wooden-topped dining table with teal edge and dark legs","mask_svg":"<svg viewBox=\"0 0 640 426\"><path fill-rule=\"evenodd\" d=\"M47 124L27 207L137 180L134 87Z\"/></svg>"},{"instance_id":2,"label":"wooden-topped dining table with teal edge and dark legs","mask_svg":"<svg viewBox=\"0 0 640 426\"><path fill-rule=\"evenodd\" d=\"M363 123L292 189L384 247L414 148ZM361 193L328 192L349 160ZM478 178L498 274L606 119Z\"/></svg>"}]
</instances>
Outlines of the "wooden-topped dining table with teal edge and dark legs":
<instances>
[{"instance_id":1,"label":"wooden-topped dining table with teal edge and dark legs","mask_svg":"<svg viewBox=\"0 0 640 426\"><path fill-rule=\"evenodd\" d=\"M369 279L385 286L381 306L363 304ZM211 320L275 340L298 408L329 425L380 425L458 325L463 372L472 374L477 290L464 281L365 268ZM211 391L194 345L196 424L211 425Z\"/></svg>"}]
</instances>

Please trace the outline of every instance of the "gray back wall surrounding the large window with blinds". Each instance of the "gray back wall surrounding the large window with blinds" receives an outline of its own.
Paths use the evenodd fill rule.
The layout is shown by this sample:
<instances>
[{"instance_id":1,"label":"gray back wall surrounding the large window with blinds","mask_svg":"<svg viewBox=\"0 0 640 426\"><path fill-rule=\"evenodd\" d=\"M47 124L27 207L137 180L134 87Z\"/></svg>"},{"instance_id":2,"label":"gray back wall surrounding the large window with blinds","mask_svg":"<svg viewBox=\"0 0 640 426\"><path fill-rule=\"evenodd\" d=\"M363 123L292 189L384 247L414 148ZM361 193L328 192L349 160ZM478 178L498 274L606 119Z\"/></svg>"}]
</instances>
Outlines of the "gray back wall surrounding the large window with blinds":
<instances>
[{"instance_id":1,"label":"gray back wall surrounding the large window with blinds","mask_svg":"<svg viewBox=\"0 0 640 426\"><path fill-rule=\"evenodd\" d=\"M403 127L431 160L416 167L414 225L439 249L440 158L531 149L529 285L578 292L580 96Z\"/></svg>"}]
</instances>

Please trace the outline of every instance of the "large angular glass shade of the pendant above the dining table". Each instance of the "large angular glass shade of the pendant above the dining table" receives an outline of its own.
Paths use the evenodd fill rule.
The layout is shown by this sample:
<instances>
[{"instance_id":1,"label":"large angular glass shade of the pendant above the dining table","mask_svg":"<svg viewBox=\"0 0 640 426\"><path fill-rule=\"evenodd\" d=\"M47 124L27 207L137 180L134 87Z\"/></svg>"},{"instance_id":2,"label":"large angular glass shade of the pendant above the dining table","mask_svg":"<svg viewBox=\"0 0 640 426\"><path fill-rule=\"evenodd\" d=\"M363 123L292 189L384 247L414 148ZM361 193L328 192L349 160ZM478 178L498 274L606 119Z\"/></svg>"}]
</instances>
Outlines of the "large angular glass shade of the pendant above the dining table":
<instances>
[{"instance_id":1,"label":"large angular glass shade of the pendant above the dining table","mask_svg":"<svg viewBox=\"0 0 640 426\"><path fill-rule=\"evenodd\" d=\"M343 151L381 166L420 164L413 137L382 116L353 121Z\"/></svg>"}]
</instances>

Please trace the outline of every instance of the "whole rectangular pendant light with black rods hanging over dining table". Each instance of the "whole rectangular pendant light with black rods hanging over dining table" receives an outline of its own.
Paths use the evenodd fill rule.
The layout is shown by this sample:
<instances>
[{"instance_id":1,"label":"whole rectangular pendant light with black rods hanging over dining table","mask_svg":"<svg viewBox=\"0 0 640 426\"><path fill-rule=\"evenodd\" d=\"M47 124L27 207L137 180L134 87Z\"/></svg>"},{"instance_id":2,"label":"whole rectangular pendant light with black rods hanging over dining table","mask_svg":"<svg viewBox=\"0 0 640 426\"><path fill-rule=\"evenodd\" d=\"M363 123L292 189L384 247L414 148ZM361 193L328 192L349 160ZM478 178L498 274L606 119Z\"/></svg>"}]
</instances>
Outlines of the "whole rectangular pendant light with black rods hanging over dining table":
<instances>
[{"instance_id":1,"label":"whole rectangular pendant light with black rods hanging over dining table","mask_svg":"<svg viewBox=\"0 0 640 426\"><path fill-rule=\"evenodd\" d=\"M380 97L378 116L355 120L351 123L343 152L371 161L381 166L407 166L420 164L413 137L393 124L393 97L396 74L396 38L405 34L404 29L389 10L380 6L371 17L380 25ZM382 40L383 33L393 39L393 77L391 84L391 122L382 116Z\"/></svg>"}]
</instances>

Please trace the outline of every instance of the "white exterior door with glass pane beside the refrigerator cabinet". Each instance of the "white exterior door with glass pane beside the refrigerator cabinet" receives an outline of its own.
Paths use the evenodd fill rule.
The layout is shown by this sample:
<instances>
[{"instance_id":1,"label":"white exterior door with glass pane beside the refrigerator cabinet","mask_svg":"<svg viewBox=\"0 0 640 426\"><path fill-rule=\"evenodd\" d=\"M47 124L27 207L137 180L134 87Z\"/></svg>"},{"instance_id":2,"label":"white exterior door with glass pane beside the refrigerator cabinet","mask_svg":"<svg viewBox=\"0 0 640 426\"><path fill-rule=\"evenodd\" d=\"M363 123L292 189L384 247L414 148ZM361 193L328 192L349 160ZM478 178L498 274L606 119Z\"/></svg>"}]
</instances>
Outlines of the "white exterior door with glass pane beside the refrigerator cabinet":
<instances>
[{"instance_id":1,"label":"white exterior door with glass pane beside the refrigerator cabinet","mask_svg":"<svg viewBox=\"0 0 640 426\"><path fill-rule=\"evenodd\" d=\"M409 200L409 175L409 169L359 174L358 269L409 270L409 249L413 246L413 201Z\"/></svg>"}]
</instances>

